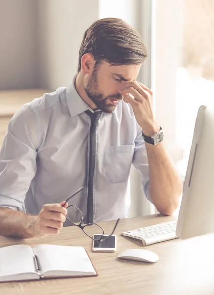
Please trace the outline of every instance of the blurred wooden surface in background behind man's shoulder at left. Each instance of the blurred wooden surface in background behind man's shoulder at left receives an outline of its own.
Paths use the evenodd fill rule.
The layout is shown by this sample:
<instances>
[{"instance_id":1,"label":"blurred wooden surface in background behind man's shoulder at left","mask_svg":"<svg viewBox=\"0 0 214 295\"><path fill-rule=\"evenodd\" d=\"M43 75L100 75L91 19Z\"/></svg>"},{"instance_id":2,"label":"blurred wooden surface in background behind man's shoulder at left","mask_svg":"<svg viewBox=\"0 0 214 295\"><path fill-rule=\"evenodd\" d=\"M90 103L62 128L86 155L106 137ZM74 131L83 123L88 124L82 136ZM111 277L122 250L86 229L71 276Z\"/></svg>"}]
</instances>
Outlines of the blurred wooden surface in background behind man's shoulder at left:
<instances>
[{"instance_id":1,"label":"blurred wooden surface in background behind man's shoulder at left","mask_svg":"<svg viewBox=\"0 0 214 295\"><path fill-rule=\"evenodd\" d=\"M25 103L49 93L46 89L20 89L0 91L0 149L9 120Z\"/></svg>"}]
</instances>

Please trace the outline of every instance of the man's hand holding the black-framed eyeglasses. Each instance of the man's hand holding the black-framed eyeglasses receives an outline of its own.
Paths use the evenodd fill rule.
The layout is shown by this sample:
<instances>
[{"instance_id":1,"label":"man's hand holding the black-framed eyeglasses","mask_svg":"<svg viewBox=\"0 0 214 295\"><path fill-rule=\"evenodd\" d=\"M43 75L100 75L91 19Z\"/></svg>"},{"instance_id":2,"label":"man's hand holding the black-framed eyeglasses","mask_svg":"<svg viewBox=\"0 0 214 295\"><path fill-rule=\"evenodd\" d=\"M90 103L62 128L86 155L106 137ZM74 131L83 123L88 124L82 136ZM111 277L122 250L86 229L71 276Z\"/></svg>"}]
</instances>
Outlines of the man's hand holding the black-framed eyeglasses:
<instances>
[{"instance_id":1,"label":"man's hand holding the black-framed eyeglasses","mask_svg":"<svg viewBox=\"0 0 214 295\"><path fill-rule=\"evenodd\" d=\"M34 224L35 236L45 237L47 235L58 235L60 229L63 227L63 222L65 222L67 215L66 203L65 201L60 204L45 204Z\"/></svg>"}]
</instances>

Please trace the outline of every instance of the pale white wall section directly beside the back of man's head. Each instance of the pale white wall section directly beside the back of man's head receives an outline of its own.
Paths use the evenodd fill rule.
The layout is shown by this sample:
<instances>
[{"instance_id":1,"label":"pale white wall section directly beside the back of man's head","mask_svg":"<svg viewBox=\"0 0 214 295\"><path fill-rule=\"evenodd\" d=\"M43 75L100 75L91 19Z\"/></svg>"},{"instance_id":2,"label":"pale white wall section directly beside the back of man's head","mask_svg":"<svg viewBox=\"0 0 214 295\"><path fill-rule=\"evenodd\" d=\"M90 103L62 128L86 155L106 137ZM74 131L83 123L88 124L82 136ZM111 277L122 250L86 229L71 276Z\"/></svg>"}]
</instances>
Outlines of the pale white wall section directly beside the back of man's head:
<instances>
[{"instance_id":1,"label":"pale white wall section directly beside the back of man's head","mask_svg":"<svg viewBox=\"0 0 214 295\"><path fill-rule=\"evenodd\" d=\"M98 0L39 0L39 83L54 90L77 72L85 30L98 19Z\"/></svg>"}]
</instances>

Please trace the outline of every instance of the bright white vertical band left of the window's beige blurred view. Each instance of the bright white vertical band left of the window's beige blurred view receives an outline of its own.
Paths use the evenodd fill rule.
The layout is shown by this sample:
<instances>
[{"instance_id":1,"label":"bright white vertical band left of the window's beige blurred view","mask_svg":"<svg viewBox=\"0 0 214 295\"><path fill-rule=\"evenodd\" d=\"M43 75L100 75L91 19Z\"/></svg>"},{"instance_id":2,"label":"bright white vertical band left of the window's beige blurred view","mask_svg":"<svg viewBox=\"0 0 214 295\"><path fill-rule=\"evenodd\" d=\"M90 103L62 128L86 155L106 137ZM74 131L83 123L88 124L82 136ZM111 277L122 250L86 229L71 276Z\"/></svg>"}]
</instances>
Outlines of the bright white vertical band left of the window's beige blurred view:
<instances>
[{"instance_id":1,"label":"bright white vertical band left of the window's beige blurred view","mask_svg":"<svg viewBox=\"0 0 214 295\"><path fill-rule=\"evenodd\" d=\"M176 71L182 46L182 1L153 0L152 88L158 121L176 163L183 149L176 142Z\"/></svg>"}]
</instances>

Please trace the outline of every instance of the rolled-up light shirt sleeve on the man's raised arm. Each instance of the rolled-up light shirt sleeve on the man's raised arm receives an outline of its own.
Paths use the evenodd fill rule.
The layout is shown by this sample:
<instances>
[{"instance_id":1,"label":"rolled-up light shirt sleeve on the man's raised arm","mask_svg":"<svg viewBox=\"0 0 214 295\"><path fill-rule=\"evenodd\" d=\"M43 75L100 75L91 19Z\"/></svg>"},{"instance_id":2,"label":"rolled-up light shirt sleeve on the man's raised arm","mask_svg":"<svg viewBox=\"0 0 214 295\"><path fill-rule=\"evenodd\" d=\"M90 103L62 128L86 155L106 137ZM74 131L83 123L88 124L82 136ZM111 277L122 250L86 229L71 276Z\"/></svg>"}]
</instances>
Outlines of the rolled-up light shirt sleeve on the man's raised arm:
<instances>
[{"instance_id":1,"label":"rolled-up light shirt sleeve on the man's raised arm","mask_svg":"<svg viewBox=\"0 0 214 295\"><path fill-rule=\"evenodd\" d=\"M144 138L142 135L142 129L138 124L137 124L137 137L135 139L135 149L134 149L132 164L140 173L140 176L142 179L141 185L146 198L152 203L150 195L149 195L150 177L149 177L147 151L145 147Z\"/></svg>"}]
</instances>

